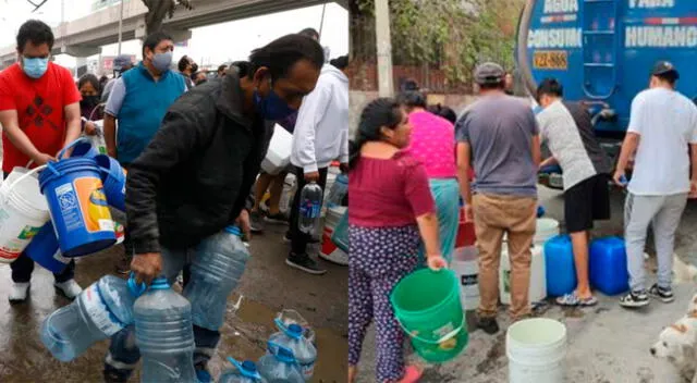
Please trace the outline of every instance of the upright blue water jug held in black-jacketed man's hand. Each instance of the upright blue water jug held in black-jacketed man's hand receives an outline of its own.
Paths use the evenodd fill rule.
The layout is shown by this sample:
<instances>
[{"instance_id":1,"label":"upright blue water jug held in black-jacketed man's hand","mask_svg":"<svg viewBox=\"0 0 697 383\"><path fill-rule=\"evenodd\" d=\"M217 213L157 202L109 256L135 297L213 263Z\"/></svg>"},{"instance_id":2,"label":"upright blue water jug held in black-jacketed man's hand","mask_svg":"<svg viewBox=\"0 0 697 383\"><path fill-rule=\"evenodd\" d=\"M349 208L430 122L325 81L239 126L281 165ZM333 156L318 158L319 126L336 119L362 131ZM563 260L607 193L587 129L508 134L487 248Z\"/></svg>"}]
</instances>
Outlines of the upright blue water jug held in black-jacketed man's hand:
<instances>
[{"instance_id":1,"label":"upright blue water jug held in black-jacketed man's hand","mask_svg":"<svg viewBox=\"0 0 697 383\"><path fill-rule=\"evenodd\" d=\"M158 277L135 301L133 316L135 342L143 356L140 382L197 383L188 300Z\"/></svg>"}]
</instances>

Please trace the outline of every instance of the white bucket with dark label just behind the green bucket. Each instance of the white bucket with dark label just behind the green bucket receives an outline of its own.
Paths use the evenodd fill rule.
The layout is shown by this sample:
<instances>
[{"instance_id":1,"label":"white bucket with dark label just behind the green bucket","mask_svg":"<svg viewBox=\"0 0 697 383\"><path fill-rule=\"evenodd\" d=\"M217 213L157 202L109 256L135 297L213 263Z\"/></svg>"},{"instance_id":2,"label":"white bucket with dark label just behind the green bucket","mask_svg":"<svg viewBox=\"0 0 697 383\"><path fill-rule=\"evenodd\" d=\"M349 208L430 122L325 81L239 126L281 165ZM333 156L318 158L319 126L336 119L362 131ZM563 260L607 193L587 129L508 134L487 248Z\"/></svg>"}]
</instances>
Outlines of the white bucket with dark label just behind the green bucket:
<instances>
[{"instance_id":1,"label":"white bucket with dark label just behind the green bucket","mask_svg":"<svg viewBox=\"0 0 697 383\"><path fill-rule=\"evenodd\" d=\"M451 269L460 281L460 300L465 310L475 310L479 306L478 255L476 246L458 247L451 262Z\"/></svg>"}]
</instances>

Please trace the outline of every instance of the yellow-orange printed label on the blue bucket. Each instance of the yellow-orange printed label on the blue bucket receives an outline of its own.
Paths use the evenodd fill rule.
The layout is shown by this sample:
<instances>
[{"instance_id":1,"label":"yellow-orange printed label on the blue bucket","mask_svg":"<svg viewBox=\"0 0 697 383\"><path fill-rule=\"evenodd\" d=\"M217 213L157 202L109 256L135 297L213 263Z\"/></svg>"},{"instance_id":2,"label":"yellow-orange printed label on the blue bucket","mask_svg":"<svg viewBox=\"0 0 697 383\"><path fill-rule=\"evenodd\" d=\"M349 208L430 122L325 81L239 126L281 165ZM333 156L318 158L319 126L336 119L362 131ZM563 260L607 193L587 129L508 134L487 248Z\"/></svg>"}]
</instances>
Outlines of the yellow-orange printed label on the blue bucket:
<instances>
[{"instance_id":1,"label":"yellow-orange printed label on the blue bucket","mask_svg":"<svg viewBox=\"0 0 697 383\"><path fill-rule=\"evenodd\" d=\"M113 221L107 203L101 180L82 177L74 182L77 201L82 208L85 228L90 232L113 232Z\"/></svg>"}]
</instances>

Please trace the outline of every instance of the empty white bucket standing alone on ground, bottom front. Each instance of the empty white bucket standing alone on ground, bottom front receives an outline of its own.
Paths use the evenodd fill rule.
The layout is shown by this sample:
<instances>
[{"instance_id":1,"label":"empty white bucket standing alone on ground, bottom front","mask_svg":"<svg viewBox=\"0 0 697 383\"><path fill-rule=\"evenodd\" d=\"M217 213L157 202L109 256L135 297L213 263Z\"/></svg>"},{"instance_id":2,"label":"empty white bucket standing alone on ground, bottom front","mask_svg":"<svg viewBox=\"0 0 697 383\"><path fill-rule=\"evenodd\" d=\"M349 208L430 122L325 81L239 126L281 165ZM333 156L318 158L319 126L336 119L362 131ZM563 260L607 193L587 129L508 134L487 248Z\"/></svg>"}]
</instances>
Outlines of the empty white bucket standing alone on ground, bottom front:
<instances>
[{"instance_id":1,"label":"empty white bucket standing alone on ground, bottom front","mask_svg":"<svg viewBox=\"0 0 697 383\"><path fill-rule=\"evenodd\" d=\"M516 322L506 332L505 354L510 383L563 382L566 326L548 318Z\"/></svg>"}]
</instances>

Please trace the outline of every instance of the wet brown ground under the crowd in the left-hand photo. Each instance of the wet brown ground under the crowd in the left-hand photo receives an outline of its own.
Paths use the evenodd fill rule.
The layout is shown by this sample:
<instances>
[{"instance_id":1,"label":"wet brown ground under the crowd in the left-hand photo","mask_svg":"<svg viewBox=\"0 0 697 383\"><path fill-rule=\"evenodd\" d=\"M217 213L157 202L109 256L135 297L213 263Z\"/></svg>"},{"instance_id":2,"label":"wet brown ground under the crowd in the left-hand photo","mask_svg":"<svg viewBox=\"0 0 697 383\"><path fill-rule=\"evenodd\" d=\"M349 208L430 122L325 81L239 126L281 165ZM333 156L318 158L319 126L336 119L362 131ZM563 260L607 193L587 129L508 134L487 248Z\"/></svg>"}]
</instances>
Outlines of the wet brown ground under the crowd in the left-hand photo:
<instances>
[{"instance_id":1,"label":"wet brown ground under the crowd in the left-hand photo","mask_svg":"<svg viewBox=\"0 0 697 383\"><path fill-rule=\"evenodd\" d=\"M296 309L317 331L319 359L314 382L345 382L347 270L325 261L329 272L306 274L285 265L290 245L282 235L286 226L267 227L252 240L252 259L229 299L229 309L244 295L236 316L229 312L217 355L209 368L215 378L229 368L225 357L257 360L266 341L276 331L273 319L281 309ZM77 260L76 281L86 287L105 274L113 273L122 247L118 246ZM101 382L102 358L108 341L93 346L72 362L51 357L41 344L38 330L46 316L70 304L54 292L53 277L37 267L29 299L22 305L8 302L10 267L0 264L0 382ZM134 376L132 382L137 382Z\"/></svg>"}]
</instances>

